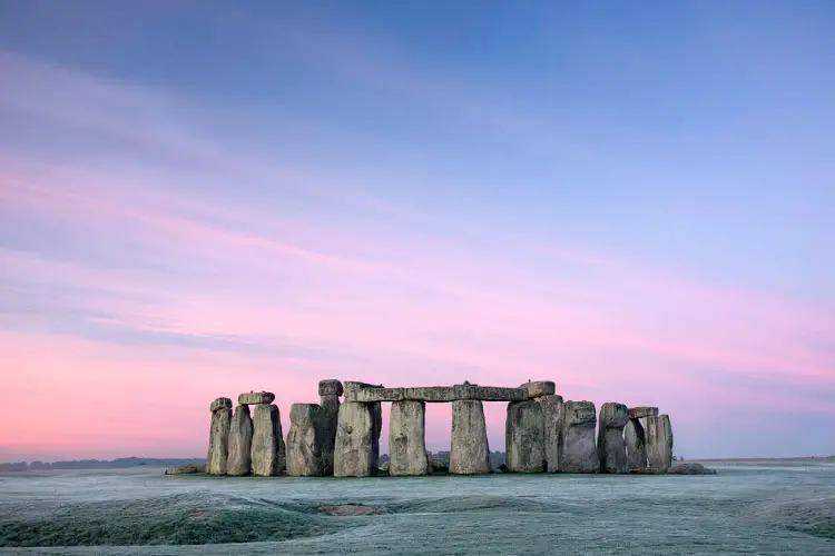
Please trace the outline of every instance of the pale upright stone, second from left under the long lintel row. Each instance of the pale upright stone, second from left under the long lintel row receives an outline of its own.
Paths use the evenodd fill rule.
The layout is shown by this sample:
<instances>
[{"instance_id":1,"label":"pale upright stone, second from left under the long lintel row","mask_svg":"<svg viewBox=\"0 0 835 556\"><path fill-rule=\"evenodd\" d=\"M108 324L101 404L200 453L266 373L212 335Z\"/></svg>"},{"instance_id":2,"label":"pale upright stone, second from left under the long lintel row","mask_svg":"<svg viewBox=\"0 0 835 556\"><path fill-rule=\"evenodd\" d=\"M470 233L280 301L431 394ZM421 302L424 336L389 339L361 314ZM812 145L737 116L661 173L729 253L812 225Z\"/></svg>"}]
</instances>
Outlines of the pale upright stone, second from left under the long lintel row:
<instances>
[{"instance_id":1,"label":"pale upright stone, second from left under the long lintel row","mask_svg":"<svg viewBox=\"0 0 835 556\"><path fill-rule=\"evenodd\" d=\"M389 419L390 475L428 475L426 404L393 401Z\"/></svg>"}]
</instances>

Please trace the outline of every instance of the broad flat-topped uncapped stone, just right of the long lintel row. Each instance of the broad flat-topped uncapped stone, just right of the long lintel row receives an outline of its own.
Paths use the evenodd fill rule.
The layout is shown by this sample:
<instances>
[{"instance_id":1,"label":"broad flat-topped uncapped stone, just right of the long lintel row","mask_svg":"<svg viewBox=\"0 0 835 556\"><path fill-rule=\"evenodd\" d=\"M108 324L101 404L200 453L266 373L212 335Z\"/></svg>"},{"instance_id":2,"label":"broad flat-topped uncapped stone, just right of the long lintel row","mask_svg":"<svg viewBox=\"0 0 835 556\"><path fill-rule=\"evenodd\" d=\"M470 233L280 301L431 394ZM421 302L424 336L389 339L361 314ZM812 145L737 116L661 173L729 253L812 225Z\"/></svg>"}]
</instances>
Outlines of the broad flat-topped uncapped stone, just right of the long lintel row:
<instances>
[{"instance_id":1,"label":"broad flat-topped uncapped stone, just right of the long lintel row","mask_svg":"<svg viewBox=\"0 0 835 556\"><path fill-rule=\"evenodd\" d=\"M597 411L591 401L566 401L562 406L562 449L560 470L564 473L597 473L595 428Z\"/></svg>"}]
</instances>

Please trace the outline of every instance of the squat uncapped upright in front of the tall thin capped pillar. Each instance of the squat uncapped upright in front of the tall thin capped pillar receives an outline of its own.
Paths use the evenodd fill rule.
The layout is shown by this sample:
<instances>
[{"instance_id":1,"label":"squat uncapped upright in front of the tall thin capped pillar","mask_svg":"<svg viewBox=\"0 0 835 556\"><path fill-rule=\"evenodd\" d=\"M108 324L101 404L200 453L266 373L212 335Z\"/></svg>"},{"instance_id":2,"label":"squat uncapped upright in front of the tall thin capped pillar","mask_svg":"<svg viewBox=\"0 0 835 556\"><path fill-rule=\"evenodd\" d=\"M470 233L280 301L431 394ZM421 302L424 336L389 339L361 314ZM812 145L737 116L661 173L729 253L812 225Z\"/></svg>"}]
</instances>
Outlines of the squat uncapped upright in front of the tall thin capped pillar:
<instances>
[{"instance_id":1,"label":"squat uncapped upright in front of the tall thin capped pillar","mask_svg":"<svg viewBox=\"0 0 835 556\"><path fill-rule=\"evenodd\" d=\"M318 404L293 404L287 434L287 475L322 475L322 408Z\"/></svg>"}]
</instances>

